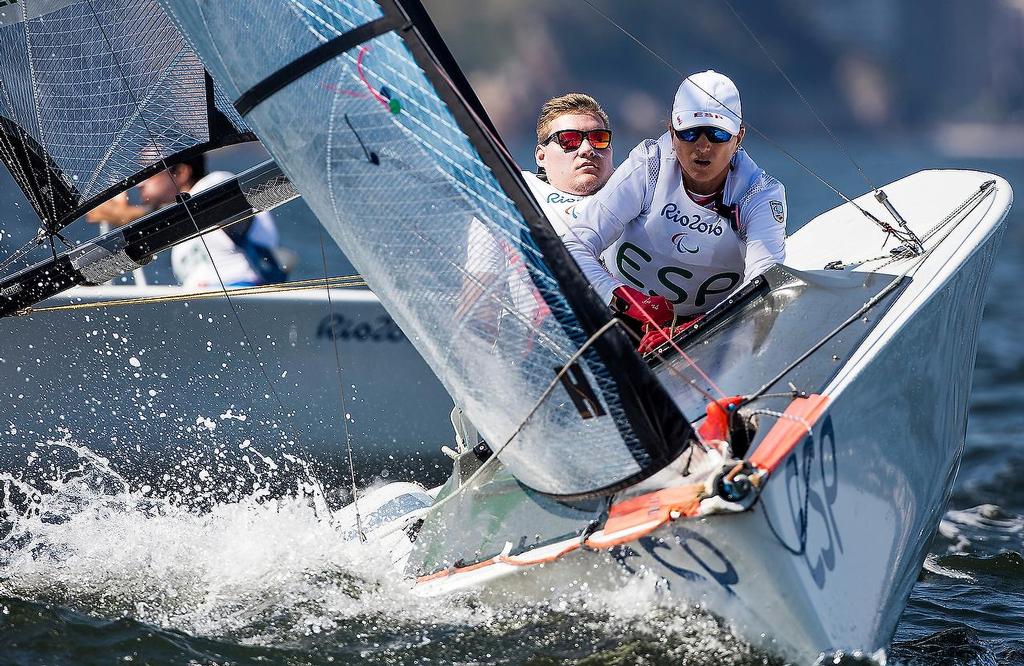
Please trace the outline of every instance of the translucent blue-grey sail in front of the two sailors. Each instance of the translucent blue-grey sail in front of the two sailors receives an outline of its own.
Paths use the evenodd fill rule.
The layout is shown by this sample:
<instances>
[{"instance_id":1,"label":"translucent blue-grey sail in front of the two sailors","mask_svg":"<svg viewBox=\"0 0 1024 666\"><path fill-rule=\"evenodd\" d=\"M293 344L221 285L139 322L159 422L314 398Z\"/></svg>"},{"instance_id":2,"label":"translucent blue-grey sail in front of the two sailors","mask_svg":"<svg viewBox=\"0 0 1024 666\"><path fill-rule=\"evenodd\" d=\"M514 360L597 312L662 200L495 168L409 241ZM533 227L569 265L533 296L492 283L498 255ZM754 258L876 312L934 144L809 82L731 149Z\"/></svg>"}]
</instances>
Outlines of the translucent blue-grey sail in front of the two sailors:
<instances>
[{"instance_id":1,"label":"translucent blue-grey sail in front of the two sailors","mask_svg":"<svg viewBox=\"0 0 1024 666\"><path fill-rule=\"evenodd\" d=\"M573 360L607 308L418 3L163 4L519 481L611 492L689 444L620 330Z\"/></svg>"}]
</instances>

